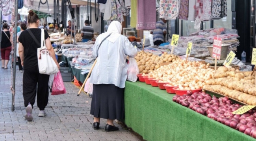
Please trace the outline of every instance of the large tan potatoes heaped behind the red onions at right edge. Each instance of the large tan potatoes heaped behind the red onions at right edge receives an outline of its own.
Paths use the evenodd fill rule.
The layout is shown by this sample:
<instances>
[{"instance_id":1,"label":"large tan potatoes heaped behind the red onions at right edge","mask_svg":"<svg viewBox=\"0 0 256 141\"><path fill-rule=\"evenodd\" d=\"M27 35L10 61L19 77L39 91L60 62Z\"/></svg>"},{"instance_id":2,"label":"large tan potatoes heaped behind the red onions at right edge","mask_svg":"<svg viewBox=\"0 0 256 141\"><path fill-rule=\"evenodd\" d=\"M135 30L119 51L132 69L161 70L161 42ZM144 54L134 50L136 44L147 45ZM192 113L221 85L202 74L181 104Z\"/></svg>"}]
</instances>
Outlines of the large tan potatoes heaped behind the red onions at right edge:
<instances>
[{"instance_id":1,"label":"large tan potatoes heaped behind the red onions at right edge","mask_svg":"<svg viewBox=\"0 0 256 141\"><path fill-rule=\"evenodd\" d=\"M204 89L211 90L248 105L256 105L255 77L251 72L238 72L233 68L219 67L213 79L206 81Z\"/></svg>"}]
</instances>

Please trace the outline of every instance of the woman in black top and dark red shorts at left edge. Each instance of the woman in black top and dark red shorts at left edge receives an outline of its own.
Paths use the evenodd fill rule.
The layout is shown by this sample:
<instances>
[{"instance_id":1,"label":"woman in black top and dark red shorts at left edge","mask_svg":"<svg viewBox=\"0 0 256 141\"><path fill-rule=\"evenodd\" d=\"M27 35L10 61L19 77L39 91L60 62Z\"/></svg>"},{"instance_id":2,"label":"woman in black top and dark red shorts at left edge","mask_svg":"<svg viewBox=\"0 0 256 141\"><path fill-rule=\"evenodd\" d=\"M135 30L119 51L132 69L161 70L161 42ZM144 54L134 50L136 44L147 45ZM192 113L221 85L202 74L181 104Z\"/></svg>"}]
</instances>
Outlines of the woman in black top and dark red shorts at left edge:
<instances>
[{"instance_id":1,"label":"woman in black top and dark red shorts at left edge","mask_svg":"<svg viewBox=\"0 0 256 141\"><path fill-rule=\"evenodd\" d=\"M2 69L7 69L11 53L11 32L7 28L8 24L4 23L1 40Z\"/></svg>"}]
</instances>

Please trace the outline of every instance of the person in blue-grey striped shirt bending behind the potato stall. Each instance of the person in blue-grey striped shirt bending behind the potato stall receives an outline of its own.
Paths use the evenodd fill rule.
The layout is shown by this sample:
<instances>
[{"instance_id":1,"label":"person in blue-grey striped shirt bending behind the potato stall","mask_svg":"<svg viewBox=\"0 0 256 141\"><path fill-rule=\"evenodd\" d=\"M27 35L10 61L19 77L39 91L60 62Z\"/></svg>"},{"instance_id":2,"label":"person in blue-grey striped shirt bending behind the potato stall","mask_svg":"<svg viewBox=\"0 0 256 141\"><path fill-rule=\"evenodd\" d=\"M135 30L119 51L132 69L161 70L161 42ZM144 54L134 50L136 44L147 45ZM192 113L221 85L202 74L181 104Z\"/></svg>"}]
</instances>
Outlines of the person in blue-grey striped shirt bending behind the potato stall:
<instances>
[{"instance_id":1,"label":"person in blue-grey striped shirt bending behind the potato stall","mask_svg":"<svg viewBox=\"0 0 256 141\"><path fill-rule=\"evenodd\" d=\"M167 20L162 18L160 21L156 22L156 29L152 30L150 34L153 34L154 45L161 45L164 42L166 31Z\"/></svg>"}]
</instances>

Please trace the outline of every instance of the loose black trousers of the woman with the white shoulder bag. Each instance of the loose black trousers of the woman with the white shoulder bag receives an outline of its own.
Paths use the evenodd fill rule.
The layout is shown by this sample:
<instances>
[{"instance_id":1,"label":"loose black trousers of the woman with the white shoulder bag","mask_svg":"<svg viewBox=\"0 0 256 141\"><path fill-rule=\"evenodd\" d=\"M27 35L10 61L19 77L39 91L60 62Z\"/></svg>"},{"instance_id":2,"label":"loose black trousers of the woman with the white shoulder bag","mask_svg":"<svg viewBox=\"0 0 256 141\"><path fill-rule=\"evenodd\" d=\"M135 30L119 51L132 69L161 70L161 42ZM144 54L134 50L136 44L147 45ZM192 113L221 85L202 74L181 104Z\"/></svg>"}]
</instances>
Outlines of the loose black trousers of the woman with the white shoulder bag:
<instances>
[{"instance_id":1,"label":"loose black trousers of the woman with the white shoulder bag","mask_svg":"<svg viewBox=\"0 0 256 141\"><path fill-rule=\"evenodd\" d=\"M48 103L49 75L40 74L38 66L23 70L23 98L25 107L30 103L33 107L37 96L37 107L45 110Z\"/></svg>"}]
</instances>

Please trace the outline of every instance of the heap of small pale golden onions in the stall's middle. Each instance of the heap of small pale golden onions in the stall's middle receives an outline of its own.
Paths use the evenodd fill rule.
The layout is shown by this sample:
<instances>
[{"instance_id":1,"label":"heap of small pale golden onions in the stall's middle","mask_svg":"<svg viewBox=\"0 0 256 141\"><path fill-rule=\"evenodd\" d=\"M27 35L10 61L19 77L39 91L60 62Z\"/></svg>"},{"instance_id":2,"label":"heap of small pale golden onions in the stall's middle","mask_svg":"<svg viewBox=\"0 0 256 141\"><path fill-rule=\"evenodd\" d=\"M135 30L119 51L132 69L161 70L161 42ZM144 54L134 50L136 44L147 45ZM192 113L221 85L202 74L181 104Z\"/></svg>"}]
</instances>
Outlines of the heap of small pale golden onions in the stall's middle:
<instances>
[{"instance_id":1,"label":"heap of small pale golden onions in the stall's middle","mask_svg":"<svg viewBox=\"0 0 256 141\"><path fill-rule=\"evenodd\" d=\"M150 72L148 77L168 82L169 86L178 86L179 90L201 89L206 85L205 80L213 78L214 70L209 65L199 61L177 60Z\"/></svg>"}]
</instances>

